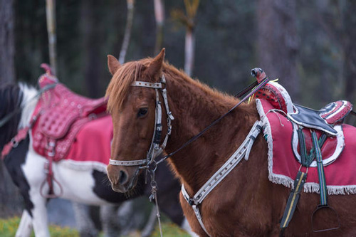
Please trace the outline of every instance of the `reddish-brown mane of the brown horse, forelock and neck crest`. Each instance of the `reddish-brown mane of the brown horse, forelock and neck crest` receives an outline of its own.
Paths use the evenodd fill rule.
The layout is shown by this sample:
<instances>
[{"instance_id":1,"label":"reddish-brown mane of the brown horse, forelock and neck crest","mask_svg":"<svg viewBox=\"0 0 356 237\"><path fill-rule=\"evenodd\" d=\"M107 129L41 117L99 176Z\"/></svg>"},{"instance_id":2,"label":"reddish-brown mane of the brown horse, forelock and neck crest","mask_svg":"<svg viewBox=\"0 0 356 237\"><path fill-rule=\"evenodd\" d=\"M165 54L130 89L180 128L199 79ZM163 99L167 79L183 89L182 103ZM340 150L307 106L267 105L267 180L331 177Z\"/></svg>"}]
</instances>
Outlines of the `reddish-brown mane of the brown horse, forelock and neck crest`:
<instances>
[{"instance_id":1,"label":"reddish-brown mane of the brown horse, forelock and neck crest","mask_svg":"<svg viewBox=\"0 0 356 237\"><path fill-rule=\"evenodd\" d=\"M125 63L121 66L120 70L117 70L112 76L112 80L105 93L105 97L108 98L109 112L112 112L114 107L120 110L130 91L130 85L133 82L140 80L142 70L145 69L151 61L152 58L144 58L142 60ZM190 78L184 71L178 70L167 62L163 63L162 70L164 75L166 75L166 78L173 78L174 81L184 80L197 86L197 88L201 88L201 90L204 90L208 98L214 97L236 102L236 98L231 95L223 93L216 88L210 88L209 85L201 83L197 79Z\"/></svg>"}]
</instances>

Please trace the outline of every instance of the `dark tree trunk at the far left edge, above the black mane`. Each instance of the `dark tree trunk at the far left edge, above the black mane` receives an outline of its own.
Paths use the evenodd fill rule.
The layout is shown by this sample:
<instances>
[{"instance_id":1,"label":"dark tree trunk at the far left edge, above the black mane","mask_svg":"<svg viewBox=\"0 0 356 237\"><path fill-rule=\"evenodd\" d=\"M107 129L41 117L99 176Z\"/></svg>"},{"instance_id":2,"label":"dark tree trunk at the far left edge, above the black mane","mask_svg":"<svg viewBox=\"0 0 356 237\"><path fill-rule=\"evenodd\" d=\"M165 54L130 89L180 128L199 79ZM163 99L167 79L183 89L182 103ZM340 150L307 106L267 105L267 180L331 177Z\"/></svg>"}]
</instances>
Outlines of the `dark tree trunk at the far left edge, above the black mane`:
<instances>
[{"instance_id":1,"label":"dark tree trunk at the far left edge, above the black mane","mask_svg":"<svg viewBox=\"0 0 356 237\"><path fill-rule=\"evenodd\" d=\"M0 0L0 83L15 80L14 0Z\"/></svg>"}]
</instances>

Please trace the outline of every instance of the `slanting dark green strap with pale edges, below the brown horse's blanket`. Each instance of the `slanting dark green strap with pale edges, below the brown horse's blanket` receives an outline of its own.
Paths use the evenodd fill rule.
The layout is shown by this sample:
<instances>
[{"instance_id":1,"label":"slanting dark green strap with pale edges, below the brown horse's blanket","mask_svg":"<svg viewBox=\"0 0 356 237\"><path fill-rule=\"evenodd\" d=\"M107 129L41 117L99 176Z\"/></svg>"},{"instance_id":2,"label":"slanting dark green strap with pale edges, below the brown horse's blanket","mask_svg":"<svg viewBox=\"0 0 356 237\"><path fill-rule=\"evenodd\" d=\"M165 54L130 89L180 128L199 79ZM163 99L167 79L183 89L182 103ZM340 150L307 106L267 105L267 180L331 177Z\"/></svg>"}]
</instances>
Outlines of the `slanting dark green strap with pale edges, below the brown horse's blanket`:
<instances>
[{"instance_id":1,"label":"slanting dark green strap with pale edges, below the brown horse's blanket","mask_svg":"<svg viewBox=\"0 0 356 237\"><path fill-rule=\"evenodd\" d=\"M284 210L284 214L281 220L281 228L286 228L293 217L295 207L298 204L300 191L302 191L303 186L305 184L305 179L307 179L307 174L304 172L298 171L297 177L294 180L294 187L290 191L286 209Z\"/></svg>"}]
</instances>

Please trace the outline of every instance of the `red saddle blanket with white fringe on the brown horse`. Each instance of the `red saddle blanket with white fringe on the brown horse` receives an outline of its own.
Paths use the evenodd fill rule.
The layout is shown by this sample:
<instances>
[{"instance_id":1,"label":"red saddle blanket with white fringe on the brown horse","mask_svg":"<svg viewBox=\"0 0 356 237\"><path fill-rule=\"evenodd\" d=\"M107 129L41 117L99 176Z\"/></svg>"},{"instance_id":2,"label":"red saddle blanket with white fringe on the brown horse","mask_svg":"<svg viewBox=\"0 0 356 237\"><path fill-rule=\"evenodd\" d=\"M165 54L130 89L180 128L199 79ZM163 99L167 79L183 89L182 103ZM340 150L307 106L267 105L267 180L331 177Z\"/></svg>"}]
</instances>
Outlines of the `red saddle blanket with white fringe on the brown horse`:
<instances>
[{"instance_id":1,"label":"red saddle blanket with white fringe on the brown horse","mask_svg":"<svg viewBox=\"0 0 356 237\"><path fill-rule=\"evenodd\" d=\"M257 99L256 105L268 143L268 179L276 184L293 187L293 180L300 169L298 157L293 152L293 125L283 113L274 110L275 107L268 101ZM328 194L356 194L356 127L343 124L339 130L343 136L340 133L339 139L337 136L328 138L327 145L322 147L323 162L324 159L336 156L333 164L324 165ZM301 170L305 172L306 168L302 167ZM319 191L316 167L308 169L304 191Z\"/></svg>"}]
</instances>

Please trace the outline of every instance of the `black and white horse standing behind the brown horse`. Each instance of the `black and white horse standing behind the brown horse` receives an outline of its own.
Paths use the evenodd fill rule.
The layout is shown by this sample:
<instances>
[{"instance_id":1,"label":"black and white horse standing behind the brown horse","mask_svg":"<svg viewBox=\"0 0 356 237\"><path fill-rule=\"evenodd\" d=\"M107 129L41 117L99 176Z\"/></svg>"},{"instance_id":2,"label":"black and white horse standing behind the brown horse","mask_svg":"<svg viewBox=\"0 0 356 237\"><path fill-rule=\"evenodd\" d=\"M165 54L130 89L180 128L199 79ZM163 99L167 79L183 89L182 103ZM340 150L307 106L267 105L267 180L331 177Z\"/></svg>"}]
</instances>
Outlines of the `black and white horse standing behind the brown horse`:
<instances>
[{"instance_id":1,"label":"black and white horse standing behind the brown horse","mask_svg":"<svg viewBox=\"0 0 356 237\"><path fill-rule=\"evenodd\" d=\"M36 98L37 94L38 90L21 83L0 88L0 121L6 115L18 110L8 122L0 127L0 151L16 136L19 129L28 126L37 103L37 99L33 100L33 98ZM41 184L46 179L43 169L46 158L33 150L31 132L28 132L26 138L4 157L4 164L14 184L19 187L25 203L25 210L16 236L30 236L32 228L36 236L49 236L46 211L48 199L40 194ZM66 165L65 160L53 163L53 173L62 186L61 198L63 199L101 206L120 204L137 196L150 195L150 182L145 184L144 177L140 177L139 185L132 195L125 196L125 194L112 191L108 182L105 182L107 174L103 170L70 167ZM159 187L157 191L159 209L174 223L194 235L179 206L179 181L174 179L169 169L164 166L158 167L156 178ZM57 185L54 186L55 193L59 193L59 189Z\"/></svg>"}]
</instances>

